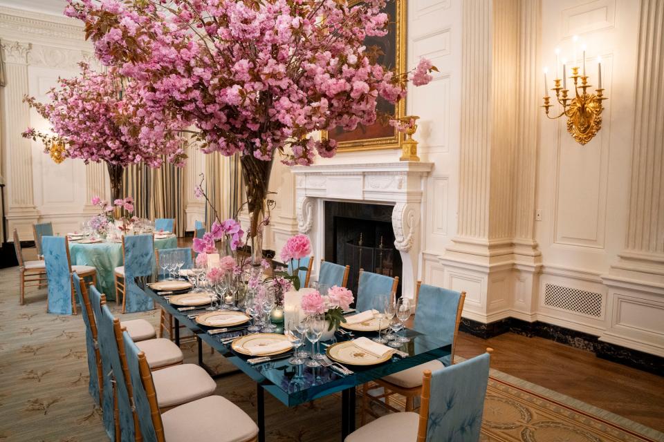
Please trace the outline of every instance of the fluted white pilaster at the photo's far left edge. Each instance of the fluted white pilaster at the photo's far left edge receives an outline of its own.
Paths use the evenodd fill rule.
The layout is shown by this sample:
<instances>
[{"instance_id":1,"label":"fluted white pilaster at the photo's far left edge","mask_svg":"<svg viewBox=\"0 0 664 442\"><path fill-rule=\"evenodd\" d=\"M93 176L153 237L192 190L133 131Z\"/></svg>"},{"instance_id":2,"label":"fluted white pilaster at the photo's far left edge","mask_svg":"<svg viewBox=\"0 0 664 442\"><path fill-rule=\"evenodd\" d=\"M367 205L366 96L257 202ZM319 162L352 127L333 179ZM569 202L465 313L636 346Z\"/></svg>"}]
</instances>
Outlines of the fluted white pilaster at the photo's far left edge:
<instances>
[{"instance_id":1,"label":"fluted white pilaster at the photo's far left edge","mask_svg":"<svg viewBox=\"0 0 664 442\"><path fill-rule=\"evenodd\" d=\"M3 41L5 83L2 88L2 140L6 173L7 219L9 231L19 230L21 240L32 238L31 224L39 214L33 196L33 158L30 140L21 136L30 125L30 111L23 102L28 94L28 52L30 44ZM10 236L10 233L8 233Z\"/></svg>"}]
</instances>

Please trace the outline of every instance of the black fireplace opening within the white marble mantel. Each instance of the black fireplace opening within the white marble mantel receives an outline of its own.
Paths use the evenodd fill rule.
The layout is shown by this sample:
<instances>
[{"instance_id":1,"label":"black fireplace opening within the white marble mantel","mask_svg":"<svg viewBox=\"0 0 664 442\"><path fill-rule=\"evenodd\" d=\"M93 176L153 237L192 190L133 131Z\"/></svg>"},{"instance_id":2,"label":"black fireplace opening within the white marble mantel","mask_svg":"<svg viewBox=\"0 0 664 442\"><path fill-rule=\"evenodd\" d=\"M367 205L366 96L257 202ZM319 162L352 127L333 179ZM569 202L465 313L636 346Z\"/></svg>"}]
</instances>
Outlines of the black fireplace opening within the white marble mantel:
<instances>
[{"instance_id":1,"label":"black fireplace opening within the white marble mantel","mask_svg":"<svg viewBox=\"0 0 664 442\"><path fill-rule=\"evenodd\" d=\"M394 247L394 206L325 202L325 260L349 265L348 288L357 296L360 269L398 276L401 293L401 255Z\"/></svg>"}]
</instances>

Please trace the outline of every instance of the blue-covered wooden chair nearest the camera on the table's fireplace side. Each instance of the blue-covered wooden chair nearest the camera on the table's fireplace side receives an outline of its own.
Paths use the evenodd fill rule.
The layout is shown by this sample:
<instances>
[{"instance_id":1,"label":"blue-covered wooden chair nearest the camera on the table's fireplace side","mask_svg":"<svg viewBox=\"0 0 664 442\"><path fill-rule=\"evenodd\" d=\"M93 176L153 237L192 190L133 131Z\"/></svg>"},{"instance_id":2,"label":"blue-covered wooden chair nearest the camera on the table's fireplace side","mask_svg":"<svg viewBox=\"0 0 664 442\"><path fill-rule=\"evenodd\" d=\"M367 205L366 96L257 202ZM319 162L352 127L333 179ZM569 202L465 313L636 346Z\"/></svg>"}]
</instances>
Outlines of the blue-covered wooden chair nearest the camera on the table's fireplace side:
<instances>
[{"instance_id":1,"label":"blue-covered wooden chair nearest the camera on the table's fireplace side","mask_svg":"<svg viewBox=\"0 0 664 442\"><path fill-rule=\"evenodd\" d=\"M393 412L400 411L398 408L390 405L391 396L394 396L394 394L400 394L405 397L405 411L411 412L415 410L415 398L421 395L422 390L422 385L419 383L421 374L427 369L441 369L454 363L454 349L457 345L457 334L459 333L459 324L461 323L465 292L422 285L422 282L418 281L415 291L416 302L420 297L422 287L424 287L424 294L421 302L417 303L414 329L439 336L443 339L449 338L452 340L450 356L446 356L442 360L430 361L423 365L404 370L403 372L385 376L385 378L378 379L373 383L362 385L362 423L366 421L367 414L374 415L367 406L369 401L379 403ZM382 394L371 394L371 390L379 389L382 389Z\"/></svg>"}]
</instances>

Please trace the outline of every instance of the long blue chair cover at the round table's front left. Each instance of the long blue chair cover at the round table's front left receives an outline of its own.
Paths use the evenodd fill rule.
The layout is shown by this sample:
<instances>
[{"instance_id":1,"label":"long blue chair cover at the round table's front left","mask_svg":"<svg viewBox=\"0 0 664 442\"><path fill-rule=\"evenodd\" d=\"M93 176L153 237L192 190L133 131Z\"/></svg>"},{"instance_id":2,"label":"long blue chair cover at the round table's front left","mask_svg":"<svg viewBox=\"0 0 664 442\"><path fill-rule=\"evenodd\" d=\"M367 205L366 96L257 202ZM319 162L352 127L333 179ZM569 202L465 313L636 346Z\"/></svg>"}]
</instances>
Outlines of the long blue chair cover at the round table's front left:
<instances>
[{"instance_id":1,"label":"long blue chair cover at the round table's front left","mask_svg":"<svg viewBox=\"0 0 664 442\"><path fill-rule=\"evenodd\" d=\"M71 265L66 240L62 236L44 236L42 250L48 282L48 313L71 315Z\"/></svg>"}]
</instances>

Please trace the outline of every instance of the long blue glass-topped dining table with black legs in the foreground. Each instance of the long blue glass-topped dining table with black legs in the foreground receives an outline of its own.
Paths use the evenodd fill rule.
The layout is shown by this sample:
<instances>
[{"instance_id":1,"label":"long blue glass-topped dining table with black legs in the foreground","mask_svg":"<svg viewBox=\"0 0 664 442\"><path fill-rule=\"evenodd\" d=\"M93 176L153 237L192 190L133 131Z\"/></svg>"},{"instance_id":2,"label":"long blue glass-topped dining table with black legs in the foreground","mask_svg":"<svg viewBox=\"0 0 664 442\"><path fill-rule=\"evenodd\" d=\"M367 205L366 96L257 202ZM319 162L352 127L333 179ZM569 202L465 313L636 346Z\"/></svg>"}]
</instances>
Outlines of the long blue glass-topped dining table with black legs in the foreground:
<instances>
[{"instance_id":1,"label":"long blue glass-topped dining table with black legs in the foreground","mask_svg":"<svg viewBox=\"0 0 664 442\"><path fill-rule=\"evenodd\" d=\"M439 336L431 336L407 328L402 330L401 333L410 338L410 341L398 348L400 355L394 354L388 361L378 365L342 365L342 367L350 370L351 374L342 374L338 369L335 370L329 367L291 365L288 363L288 358L279 357L278 355L273 356L269 361L252 363L250 359L255 356L245 356L232 348L232 339L250 334L246 326L227 327L228 332L219 333L219 329L216 327L201 325L196 322L195 317L198 314L207 313L205 310L207 306L187 309L187 307L173 305L169 302L173 292L153 290L149 285L150 282L151 278L136 278L139 287L174 318L174 340L177 345L180 345L180 326L183 325L196 337L198 361L201 367L208 369L208 372L210 372L210 367L205 365L203 361L202 343L206 343L237 368L234 372L242 372L256 383L259 442L265 442L266 435L265 392L273 395L287 407L295 407L302 403L341 392L341 440L344 441L346 436L353 432L356 427L356 388L358 386L434 359L449 356L452 351L451 342L442 340ZM353 332L353 334L337 332L333 340L323 342L322 345L328 347L334 341L342 342L360 336L371 338L376 336L376 332ZM214 375L214 373L210 374Z\"/></svg>"}]
</instances>

